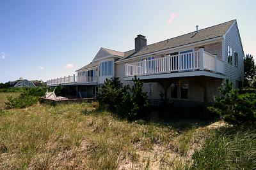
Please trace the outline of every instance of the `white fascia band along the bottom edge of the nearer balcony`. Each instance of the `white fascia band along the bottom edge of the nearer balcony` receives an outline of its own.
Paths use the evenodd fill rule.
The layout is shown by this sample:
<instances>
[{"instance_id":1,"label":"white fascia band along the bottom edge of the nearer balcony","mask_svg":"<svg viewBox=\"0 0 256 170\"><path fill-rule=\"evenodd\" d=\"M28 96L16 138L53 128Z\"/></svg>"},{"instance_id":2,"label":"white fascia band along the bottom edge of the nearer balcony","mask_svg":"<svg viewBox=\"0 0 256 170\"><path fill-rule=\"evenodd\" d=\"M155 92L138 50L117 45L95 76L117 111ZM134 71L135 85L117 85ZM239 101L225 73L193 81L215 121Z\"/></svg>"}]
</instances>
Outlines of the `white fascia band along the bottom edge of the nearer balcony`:
<instances>
[{"instance_id":1,"label":"white fascia band along the bottom edge of the nearer balcony","mask_svg":"<svg viewBox=\"0 0 256 170\"><path fill-rule=\"evenodd\" d=\"M189 76L210 76L214 78L225 78L226 76L218 73L211 73L209 71L186 71L180 73L164 73L164 74L152 74L146 76L137 76L140 80L158 79L158 78L179 78ZM124 80L132 80L134 76L124 77Z\"/></svg>"}]
</instances>

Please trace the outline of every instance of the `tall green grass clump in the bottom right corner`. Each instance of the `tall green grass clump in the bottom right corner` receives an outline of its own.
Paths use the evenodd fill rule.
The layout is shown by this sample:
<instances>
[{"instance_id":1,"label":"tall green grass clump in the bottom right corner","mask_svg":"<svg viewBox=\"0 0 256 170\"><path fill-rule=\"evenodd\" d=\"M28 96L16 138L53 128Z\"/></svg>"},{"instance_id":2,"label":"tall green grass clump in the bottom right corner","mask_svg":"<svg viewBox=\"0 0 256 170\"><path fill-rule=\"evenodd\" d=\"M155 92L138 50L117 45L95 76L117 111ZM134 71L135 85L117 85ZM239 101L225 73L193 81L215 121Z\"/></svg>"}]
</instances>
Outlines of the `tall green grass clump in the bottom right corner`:
<instances>
[{"instance_id":1,"label":"tall green grass clump in the bottom right corner","mask_svg":"<svg viewBox=\"0 0 256 170\"><path fill-rule=\"evenodd\" d=\"M255 126L223 128L212 132L192 158L191 169L256 169Z\"/></svg>"}]
</instances>

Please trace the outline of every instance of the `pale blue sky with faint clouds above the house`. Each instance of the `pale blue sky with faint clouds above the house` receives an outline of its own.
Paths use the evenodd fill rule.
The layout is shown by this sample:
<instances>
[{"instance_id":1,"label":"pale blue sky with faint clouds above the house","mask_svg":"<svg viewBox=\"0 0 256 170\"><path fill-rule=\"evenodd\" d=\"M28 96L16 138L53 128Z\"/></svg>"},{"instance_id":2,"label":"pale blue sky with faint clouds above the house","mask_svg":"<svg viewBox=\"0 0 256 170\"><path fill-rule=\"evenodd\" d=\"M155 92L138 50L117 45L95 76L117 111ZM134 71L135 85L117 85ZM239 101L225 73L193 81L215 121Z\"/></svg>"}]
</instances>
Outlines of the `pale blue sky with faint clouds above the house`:
<instances>
[{"instance_id":1,"label":"pale blue sky with faint clouds above the house","mask_svg":"<svg viewBox=\"0 0 256 170\"><path fill-rule=\"evenodd\" d=\"M125 52L237 20L244 53L256 59L254 0L0 0L0 82L75 74L100 47Z\"/></svg>"}]
</instances>

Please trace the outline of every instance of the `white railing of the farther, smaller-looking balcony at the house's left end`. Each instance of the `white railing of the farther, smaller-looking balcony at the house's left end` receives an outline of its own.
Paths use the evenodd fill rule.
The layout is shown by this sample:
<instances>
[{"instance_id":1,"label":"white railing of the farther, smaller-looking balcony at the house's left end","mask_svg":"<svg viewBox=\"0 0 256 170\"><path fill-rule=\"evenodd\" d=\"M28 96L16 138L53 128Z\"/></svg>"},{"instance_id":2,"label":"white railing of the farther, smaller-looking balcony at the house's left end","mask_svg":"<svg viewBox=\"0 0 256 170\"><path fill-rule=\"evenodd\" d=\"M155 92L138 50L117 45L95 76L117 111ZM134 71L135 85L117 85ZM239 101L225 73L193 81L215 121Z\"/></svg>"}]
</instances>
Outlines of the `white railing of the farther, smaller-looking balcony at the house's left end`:
<instances>
[{"instance_id":1,"label":"white railing of the farther, smaller-looking balcony at the house's left end","mask_svg":"<svg viewBox=\"0 0 256 170\"><path fill-rule=\"evenodd\" d=\"M47 80L47 85L63 85L68 83L97 83L97 76L67 76Z\"/></svg>"}]
</instances>

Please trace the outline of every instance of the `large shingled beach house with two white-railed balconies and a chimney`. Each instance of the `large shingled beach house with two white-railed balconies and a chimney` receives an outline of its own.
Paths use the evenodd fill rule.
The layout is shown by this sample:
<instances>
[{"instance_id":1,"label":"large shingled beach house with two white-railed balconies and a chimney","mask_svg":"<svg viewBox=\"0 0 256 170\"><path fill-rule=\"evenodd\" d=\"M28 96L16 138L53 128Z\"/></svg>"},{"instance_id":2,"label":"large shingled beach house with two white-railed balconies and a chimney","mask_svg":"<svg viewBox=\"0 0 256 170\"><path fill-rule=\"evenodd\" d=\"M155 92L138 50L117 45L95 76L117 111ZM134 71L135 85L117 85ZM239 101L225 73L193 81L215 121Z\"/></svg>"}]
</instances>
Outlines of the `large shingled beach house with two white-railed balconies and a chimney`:
<instances>
[{"instance_id":1,"label":"large shingled beach house with two white-railed balconies and a chimney","mask_svg":"<svg viewBox=\"0 0 256 170\"><path fill-rule=\"evenodd\" d=\"M132 85L137 76L152 103L159 94L186 106L211 103L218 87L228 79L239 87L243 80L243 46L237 21L198 29L175 38L147 45L145 36L135 38L135 48L118 52L100 48L92 62L77 75L47 81L48 87L74 87L77 96L92 97L106 78L120 78Z\"/></svg>"}]
</instances>

